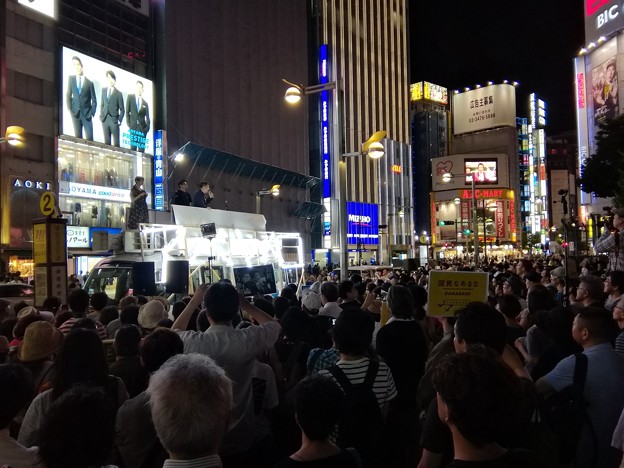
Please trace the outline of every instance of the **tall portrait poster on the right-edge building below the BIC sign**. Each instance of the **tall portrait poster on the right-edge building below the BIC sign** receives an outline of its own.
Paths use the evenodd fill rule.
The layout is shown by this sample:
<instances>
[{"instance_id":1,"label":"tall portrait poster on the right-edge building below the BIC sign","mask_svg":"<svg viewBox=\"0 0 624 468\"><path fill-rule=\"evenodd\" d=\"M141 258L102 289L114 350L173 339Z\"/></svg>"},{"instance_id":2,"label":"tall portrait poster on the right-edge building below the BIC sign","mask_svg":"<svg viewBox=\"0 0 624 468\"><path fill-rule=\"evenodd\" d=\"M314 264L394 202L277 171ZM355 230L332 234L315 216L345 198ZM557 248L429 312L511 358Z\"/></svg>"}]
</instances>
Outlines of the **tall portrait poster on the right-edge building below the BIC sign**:
<instances>
[{"instance_id":1,"label":"tall portrait poster on the right-edge building below the BIC sign","mask_svg":"<svg viewBox=\"0 0 624 468\"><path fill-rule=\"evenodd\" d=\"M607 119L619 115L618 77L615 56L605 60L591 71L594 124L596 128Z\"/></svg>"}]
</instances>

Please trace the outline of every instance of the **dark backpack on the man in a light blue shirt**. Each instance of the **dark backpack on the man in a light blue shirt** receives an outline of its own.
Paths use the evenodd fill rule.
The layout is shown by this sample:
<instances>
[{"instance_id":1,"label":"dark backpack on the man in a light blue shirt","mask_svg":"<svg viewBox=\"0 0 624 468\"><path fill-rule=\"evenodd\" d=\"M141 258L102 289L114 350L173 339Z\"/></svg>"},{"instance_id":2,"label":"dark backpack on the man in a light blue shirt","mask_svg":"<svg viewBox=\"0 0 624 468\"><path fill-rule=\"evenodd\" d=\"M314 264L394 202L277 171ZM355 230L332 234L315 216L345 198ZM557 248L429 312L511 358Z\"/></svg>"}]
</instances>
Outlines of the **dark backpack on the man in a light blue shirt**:
<instances>
[{"instance_id":1,"label":"dark backpack on the man in a light blue shirt","mask_svg":"<svg viewBox=\"0 0 624 468\"><path fill-rule=\"evenodd\" d=\"M589 404L583 396L583 389L587 380L587 356L577 353L574 357L576 362L572 385L547 398L542 415L557 436L561 462L574 460L581 432L587 425L593 436L595 464L596 432L587 414Z\"/></svg>"}]
</instances>

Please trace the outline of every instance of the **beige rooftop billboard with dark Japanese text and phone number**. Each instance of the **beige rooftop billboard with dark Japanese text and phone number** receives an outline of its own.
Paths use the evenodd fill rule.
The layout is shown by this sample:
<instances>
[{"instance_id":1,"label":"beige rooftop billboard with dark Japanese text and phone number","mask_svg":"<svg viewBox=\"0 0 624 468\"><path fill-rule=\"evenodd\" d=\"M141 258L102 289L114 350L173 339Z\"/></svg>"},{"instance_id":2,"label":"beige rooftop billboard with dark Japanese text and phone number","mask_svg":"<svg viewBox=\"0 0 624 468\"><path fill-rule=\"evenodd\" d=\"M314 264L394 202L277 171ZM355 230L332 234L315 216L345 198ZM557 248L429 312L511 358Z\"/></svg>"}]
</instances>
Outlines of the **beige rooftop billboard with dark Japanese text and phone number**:
<instances>
[{"instance_id":1,"label":"beige rooftop billboard with dark Japanese text and phone number","mask_svg":"<svg viewBox=\"0 0 624 468\"><path fill-rule=\"evenodd\" d=\"M453 133L516 126L516 88L491 85L453 95Z\"/></svg>"}]
</instances>

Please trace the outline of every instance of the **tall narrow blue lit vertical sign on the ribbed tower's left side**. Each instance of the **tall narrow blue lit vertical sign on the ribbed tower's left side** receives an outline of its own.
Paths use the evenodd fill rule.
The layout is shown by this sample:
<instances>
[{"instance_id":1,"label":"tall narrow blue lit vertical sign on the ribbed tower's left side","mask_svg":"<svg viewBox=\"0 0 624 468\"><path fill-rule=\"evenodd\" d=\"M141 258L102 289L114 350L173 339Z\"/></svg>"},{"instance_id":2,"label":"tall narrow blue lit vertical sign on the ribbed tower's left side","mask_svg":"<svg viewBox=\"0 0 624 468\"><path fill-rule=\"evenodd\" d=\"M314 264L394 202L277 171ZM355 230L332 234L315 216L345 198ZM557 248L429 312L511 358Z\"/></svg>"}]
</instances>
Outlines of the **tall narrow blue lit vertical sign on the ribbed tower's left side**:
<instances>
[{"instance_id":1,"label":"tall narrow blue lit vertical sign on the ribbed tower's left side","mask_svg":"<svg viewBox=\"0 0 624 468\"><path fill-rule=\"evenodd\" d=\"M319 49L319 82L329 83L329 47L321 45ZM337 90L336 90L337 92ZM326 211L323 215L323 236L325 247L331 236L331 135L329 125L329 91L321 91L321 179L323 181L323 205Z\"/></svg>"}]
</instances>

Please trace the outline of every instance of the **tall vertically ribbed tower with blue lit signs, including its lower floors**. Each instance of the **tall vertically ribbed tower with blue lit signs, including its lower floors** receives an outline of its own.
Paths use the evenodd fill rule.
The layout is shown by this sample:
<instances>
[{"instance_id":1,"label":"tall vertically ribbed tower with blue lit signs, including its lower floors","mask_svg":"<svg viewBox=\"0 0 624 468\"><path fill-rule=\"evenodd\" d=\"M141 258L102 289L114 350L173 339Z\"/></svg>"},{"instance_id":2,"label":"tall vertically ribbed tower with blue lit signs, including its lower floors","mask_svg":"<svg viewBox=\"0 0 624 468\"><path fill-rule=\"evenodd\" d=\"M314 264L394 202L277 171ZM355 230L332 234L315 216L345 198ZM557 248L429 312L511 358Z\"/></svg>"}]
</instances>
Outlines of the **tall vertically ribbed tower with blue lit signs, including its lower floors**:
<instances>
[{"instance_id":1,"label":"tall vertically ribbed tower with blue lit signs, including its lower floors","mask_svg":"<svg viewBox=\"0 0 624 468\"><path fill-rule=\"evenodd\" d=\"M331 99L331 120L325 122L329 125L330 138L338 122L338 130L342 132L341 138L334 139L335 142L342 140L342 144L335 143L330 151L320 152L322 166L327 164L336 170L319 174L323 182L320 200L327 211L323 219L323 238L318 239L322 244L315 245L334 252L340 249L335 236L339 224L336 223L337 210L331 200L335 200L339 189L337 168L342 154L358 152L371 135L385 131L383 158L374 161L355 157L346 161L346 200L363 204L351 205L359 206L360 210L376 205L378 223L383 226L379 230L379 226L372 223L359 246L349 241L349 249L356 250L349 254L349 262L357 263L363 258L387 264L392 258L406 259L412 255L413 248L407 2L315 0L310 4L310 70L318 70L318 76L311 76L309 84L323 80L337 83L337 91L331 96L321 95L321 106L312 109L310 120L320 122L317 128L321 138L313 136L311 142L320 141L321 150L324 149L323 106L327 105L327 102L323 104L324 99ZM314 162L314 171L320 167ZM348 231L357 228L357 224L347 226ZM366 250L364 255L362 249ZM317 251L318 254L323 252L322 249ZM335 261L336 257L331 257Z\"/></svg>"}]
</instances>

